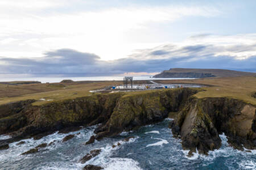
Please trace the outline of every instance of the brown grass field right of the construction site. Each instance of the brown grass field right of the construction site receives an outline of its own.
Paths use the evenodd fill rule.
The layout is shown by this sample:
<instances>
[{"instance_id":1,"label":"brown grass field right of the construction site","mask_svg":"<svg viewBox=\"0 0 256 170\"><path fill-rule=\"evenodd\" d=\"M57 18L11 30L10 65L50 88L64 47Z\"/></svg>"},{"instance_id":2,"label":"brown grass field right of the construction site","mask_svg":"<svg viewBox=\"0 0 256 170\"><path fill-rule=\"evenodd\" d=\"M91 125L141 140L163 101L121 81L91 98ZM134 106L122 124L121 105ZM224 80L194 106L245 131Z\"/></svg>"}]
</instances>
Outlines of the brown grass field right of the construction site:
<instances>
[{"instance_id":1,"label":"brown grass field right of the construction site","mask_svg":"<svg viewBox=\"0 0 256 170\"><path fill-rule=\"evenodd\" d=\"M205 91L200 91L195 95L199 99L205 97L230 97L256 105L256 99L251 96L253 92L256 92L256 77L253 76L191 80L156 80L155 82L205 84L210 87L201 87Z\"/></svg>"}]
</instances>

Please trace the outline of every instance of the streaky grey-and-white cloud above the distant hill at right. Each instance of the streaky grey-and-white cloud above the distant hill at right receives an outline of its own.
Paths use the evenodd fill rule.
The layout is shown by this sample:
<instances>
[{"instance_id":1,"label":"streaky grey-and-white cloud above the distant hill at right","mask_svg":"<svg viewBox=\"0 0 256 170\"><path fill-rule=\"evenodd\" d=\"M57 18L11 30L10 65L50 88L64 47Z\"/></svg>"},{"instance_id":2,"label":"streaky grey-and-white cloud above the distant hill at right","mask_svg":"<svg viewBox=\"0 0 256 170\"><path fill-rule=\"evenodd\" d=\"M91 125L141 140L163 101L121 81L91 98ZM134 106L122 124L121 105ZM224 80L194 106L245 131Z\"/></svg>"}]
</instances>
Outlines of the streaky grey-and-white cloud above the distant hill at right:
<instances>
[{"instance_id":1,"label":"streaky grey-and-white cloud above the distant hill at right","mask_svg":"<svg viewBox=\"0 0 256 170\"><path fill-rule=\"evenodd\" d=\"M197 36L195 36L197 37ZM199 35L201 37L201 35ZM203 38L188 39L179 43L164 44L151 49L138 50L130 57L137 59L167 59L187 56L221 57L247 59L256 56L256 34L245 35L207 35Z\"/></svg>"}]
</instances>

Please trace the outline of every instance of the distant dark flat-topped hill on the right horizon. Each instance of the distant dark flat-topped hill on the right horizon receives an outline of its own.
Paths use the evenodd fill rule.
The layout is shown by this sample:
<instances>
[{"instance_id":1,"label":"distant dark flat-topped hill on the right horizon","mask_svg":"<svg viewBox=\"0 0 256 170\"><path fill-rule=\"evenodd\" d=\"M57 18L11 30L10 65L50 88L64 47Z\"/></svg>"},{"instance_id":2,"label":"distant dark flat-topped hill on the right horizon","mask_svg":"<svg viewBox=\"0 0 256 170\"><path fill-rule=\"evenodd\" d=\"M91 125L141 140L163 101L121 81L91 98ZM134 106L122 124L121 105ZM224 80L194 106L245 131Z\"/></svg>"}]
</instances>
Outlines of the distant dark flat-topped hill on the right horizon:
<instances>
[{"instance_id":1,"label":"distant dark flat-topped hill on the right horizon","mask_svg":"<svg viewBox=\"0 0 256 170\"><path fill-rule=\"evenodd\" d=\"M154 78L208 78L208 77L234 77L234 76L256 76L256 73L223 70L223 69L181 69L175 68L164 70Z\"/></svg>"}]
</instances>

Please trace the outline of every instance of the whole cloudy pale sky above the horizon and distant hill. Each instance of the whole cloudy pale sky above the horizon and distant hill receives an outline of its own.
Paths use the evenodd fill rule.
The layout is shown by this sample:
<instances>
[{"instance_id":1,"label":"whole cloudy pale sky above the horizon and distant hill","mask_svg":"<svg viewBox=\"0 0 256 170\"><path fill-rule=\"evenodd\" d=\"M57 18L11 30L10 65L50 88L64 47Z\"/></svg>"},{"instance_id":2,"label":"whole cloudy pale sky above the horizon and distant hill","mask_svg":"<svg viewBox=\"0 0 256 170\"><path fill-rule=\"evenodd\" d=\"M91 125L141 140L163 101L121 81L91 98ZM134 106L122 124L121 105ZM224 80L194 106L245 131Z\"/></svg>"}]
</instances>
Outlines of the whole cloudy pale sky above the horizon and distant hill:
<instances>
[{"instance_id":1,"label":"whole cloudy pale sky above the horizon and distant hill","mask_svg":"<svg viewBox=\"0 0 256 170\"><path fill-rule=\"evenodd\" d=\"M256 1L1 0L0 76L256 72Z\"/></svg>"}]
</instances>

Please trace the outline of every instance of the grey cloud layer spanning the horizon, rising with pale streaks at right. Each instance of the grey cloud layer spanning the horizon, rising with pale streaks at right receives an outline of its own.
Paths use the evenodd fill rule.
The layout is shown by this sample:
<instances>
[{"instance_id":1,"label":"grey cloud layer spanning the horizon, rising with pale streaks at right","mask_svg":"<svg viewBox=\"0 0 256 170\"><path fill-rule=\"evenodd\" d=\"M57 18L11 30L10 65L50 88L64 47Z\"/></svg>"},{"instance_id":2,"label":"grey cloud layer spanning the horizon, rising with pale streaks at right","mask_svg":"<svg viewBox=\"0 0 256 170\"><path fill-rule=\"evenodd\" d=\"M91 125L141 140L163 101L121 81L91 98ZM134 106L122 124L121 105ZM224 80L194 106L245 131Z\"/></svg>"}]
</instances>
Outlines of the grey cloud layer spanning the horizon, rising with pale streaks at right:
<instances>
[{"instance_id":1,"label":"grey cloud layer spanning the horizon, rising with pale streaks at right","mask_svg":"<svg viewBox=\"0 0 256 170\"><path fill-rule=\"evenodd\" d=\"M256 72L255 37L256 35L231 37L197 35L189 37L180 44L141 49L129 57L109 61L101 60L97 54L82 53L73 49L49 51L44 53L44 57L38 58L2 57L0 58L0 73L92 76L130 72L156 73L173 67ZM208 43L196 43L198 39L200 39L199 42L207 41ZM230 41L224 42L223 39ZM241 42L236 42L236 39L240 39Z\"/></svg>"}]
</instances>

